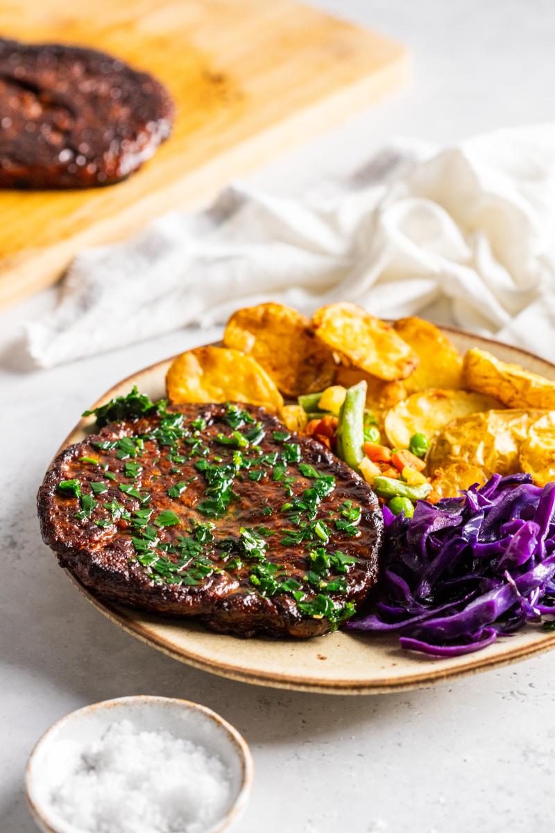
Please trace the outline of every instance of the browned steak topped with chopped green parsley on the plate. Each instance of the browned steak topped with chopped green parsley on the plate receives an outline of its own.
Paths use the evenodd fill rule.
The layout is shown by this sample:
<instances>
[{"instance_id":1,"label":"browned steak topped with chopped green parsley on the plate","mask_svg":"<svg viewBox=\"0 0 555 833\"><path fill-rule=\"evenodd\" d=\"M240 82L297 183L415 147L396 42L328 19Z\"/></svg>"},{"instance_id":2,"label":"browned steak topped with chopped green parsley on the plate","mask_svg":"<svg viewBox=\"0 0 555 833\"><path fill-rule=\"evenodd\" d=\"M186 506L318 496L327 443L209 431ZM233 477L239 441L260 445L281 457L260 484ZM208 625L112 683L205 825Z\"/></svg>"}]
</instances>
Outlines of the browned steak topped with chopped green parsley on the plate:
<instances>
[{"instance_id":1,"label":"browned steak topped with chopped green parsley on the plate","mask_svg":"<svg viewBox=\"0 0 555 833\"><path fill-rule=\"evenodd\" d=\"M166 407L136 391L97 421L53 462L38 513L60 564L99 596L225 633L301 637L334 630L368 596L377 498L316 441L263 408Z\"/></svg>"}]
</instances>

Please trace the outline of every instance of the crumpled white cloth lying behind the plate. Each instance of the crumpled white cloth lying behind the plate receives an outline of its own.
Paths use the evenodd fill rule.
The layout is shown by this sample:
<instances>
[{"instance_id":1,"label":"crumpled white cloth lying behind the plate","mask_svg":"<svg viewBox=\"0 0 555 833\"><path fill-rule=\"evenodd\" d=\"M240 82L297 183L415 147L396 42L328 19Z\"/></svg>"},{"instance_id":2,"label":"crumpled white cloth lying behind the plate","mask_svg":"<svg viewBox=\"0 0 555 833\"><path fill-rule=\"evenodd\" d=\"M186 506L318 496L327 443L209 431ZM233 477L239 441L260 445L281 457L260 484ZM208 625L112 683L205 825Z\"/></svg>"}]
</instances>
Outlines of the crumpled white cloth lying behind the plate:
<instances>
[{"instance_id":1,"label":"crumpled white cloth lying behind the plate","mask_svg":"<svg viewBox=\"0 0 555 833\"><path fill-rule=\"evenodd\" d=\"M443 299L458 326L554 358L554 230L555 124L446 149L396 142L317 195L234 185L206 211L82 252L27 345L52 367L258 302L399 317Z\"/></svg>"}]
</instances>

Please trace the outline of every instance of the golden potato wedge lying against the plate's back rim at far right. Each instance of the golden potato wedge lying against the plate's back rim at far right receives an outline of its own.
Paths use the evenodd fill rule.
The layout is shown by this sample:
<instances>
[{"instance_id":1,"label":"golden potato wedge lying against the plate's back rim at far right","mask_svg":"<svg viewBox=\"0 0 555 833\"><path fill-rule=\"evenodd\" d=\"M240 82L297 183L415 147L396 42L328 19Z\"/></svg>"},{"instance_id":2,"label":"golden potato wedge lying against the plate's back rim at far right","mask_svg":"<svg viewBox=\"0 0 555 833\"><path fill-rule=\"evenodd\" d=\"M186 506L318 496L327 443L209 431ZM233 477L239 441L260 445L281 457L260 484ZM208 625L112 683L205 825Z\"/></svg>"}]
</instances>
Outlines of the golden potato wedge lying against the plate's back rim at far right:
<instances>
[{"instance_id":1,"label":"golden potato wedge lying against the plate's back rim at far right","mask_svg":"<svg viewBox=\"0 0 555 833\"><path fill-rule=\"evenodd\" d=\"M471 391L488 393L511 408L555 408L555 382L520 365L501 362L485 350L468 350L463 383Z\"/></svg>"}]
</instances>

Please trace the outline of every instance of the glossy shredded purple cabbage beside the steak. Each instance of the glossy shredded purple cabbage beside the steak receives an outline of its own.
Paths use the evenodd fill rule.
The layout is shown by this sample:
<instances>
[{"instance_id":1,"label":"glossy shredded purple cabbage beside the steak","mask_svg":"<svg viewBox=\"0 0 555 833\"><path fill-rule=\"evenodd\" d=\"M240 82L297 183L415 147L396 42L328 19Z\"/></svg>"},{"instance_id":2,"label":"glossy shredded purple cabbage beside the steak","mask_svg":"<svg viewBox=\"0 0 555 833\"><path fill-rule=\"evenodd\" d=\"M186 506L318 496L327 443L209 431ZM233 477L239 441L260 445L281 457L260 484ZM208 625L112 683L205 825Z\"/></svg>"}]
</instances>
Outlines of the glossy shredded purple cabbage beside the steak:
<instances>
[{"instance_id":1,"label":"glossy shredded purple cabbage beside the steak","mask_svg":"<svg viewBox=\"0 0 555 833\"><path fill-rule=\"evenodd\" d=\"M412 518L384 506L374 612L347 627L397 631L401 646L459 656L555 615L555 482L493 475Z\"/></svg>"}]
</instances>

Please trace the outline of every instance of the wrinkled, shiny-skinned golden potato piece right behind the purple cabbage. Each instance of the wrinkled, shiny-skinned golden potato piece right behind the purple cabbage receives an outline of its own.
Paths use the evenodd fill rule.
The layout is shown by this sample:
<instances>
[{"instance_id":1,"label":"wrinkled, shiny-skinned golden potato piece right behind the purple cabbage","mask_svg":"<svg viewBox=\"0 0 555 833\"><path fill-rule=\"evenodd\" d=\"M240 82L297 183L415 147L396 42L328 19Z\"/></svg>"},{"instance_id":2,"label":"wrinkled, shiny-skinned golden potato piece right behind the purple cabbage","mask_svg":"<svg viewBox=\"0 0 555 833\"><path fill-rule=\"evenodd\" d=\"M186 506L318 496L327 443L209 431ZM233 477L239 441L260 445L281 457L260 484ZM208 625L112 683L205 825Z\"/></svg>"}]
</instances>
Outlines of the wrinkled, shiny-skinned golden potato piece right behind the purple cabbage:
<instances>
[{"instance_id":1,"label":"wrinkled, shiny-skinned golden potato piece right behind the purple cabbage","mask_svg":"<svg viewBox=\"0 0 555 833\"><path fill-rule=\"evenodd\" d=\"M429 471L464 462L482 469L486 478L495 472L520 471L518 453L528 438L530 426L542 411L507 408L460 416L434 438L428 452Z\"/></svg>"}]
</instances>

